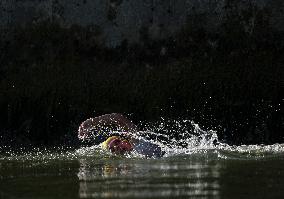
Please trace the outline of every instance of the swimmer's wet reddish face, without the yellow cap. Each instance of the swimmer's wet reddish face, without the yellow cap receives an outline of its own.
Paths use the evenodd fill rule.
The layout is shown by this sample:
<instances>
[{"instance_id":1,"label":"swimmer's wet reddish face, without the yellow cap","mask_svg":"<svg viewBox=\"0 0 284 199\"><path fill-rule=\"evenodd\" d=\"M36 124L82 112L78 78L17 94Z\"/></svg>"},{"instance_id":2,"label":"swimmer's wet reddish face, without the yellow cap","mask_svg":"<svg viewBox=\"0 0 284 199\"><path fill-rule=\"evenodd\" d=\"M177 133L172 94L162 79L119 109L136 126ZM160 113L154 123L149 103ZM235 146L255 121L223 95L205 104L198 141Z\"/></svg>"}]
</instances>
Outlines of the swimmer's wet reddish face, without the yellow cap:
<instances>
[{"instance_id":1,"label":"swimmer's wet reddish face, without the yellow cap","mask_svg":"<svg viewBox=\"0 0 284 199\"><path fill-rule=\"evenodd\" d=\"M127 140L121 140L120 138L114 138L108 144L109 150L115 154L124 154L132 151L133 147Z\"/></svg>"}]
</instances>

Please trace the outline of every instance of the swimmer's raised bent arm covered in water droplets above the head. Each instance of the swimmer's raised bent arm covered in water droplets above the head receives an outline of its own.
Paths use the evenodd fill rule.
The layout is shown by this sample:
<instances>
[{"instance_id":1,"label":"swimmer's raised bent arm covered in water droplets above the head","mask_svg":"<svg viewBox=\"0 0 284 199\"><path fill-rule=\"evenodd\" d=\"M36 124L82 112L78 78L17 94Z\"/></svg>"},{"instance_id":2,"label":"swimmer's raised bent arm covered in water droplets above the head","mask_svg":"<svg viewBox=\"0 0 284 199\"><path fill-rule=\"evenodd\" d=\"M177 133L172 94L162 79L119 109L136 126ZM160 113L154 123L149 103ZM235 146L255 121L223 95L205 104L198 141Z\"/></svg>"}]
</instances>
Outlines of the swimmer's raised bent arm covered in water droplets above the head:
<instances>
[{"instance_id":1,"label":"swimmer's raised bent arm covered in water droplets above the head","mask_svg":"<svg viewBox=\"0 0 284 199\"><path fill-rule=\"evenodd\" d=\"M122 130L136 132L137 126L129 119L119 113L106 114L95 118L90 118L84 121L78 130L78 137L84 139L88 137L89 132L95 127L106 127L115 125Z\"/></svg>"}]
</instances>

